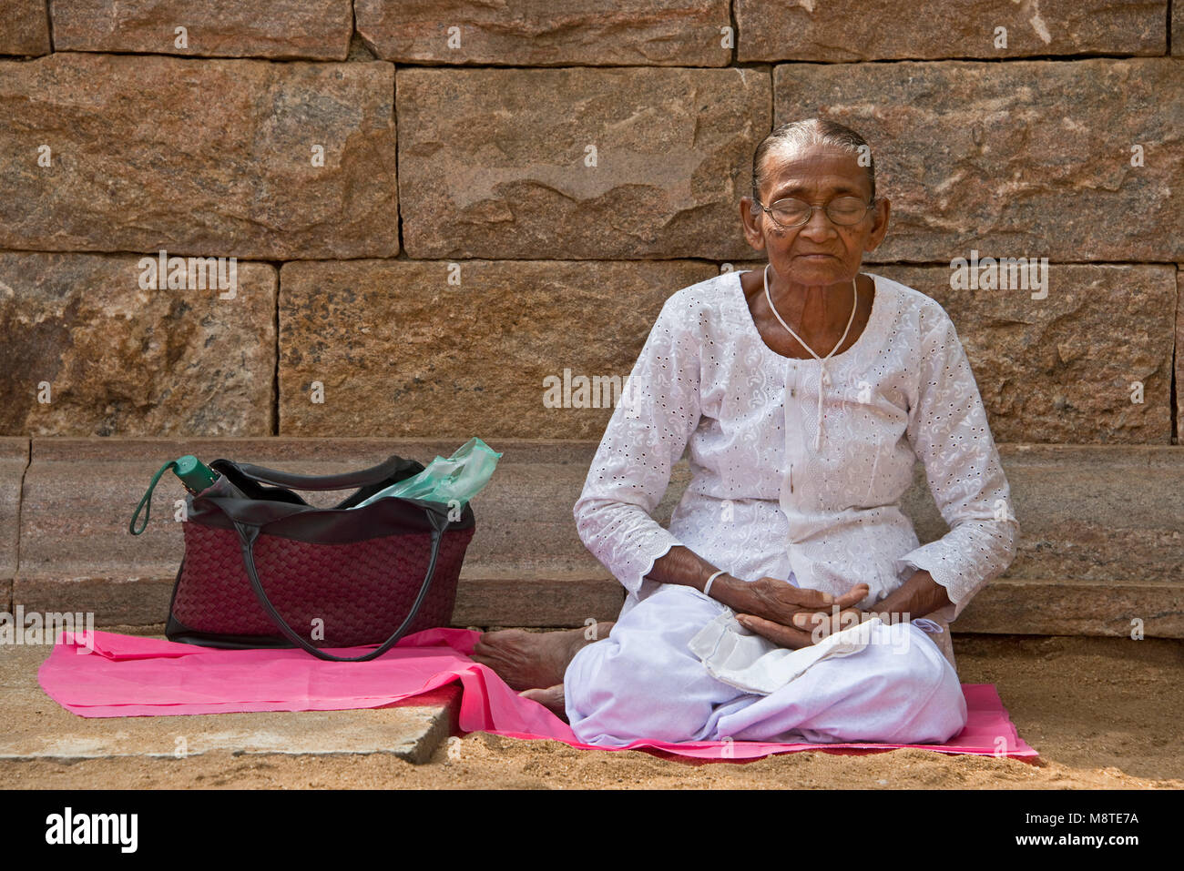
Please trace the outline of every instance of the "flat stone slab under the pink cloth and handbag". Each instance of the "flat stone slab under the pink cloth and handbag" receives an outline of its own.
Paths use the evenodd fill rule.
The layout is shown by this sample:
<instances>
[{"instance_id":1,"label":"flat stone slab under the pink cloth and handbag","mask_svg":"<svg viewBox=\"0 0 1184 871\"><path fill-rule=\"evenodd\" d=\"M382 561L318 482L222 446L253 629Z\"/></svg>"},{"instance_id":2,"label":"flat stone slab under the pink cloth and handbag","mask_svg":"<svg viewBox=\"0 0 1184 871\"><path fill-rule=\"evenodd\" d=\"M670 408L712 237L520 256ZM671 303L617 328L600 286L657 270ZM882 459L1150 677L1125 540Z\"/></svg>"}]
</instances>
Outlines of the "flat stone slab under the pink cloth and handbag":
<instances>
[{"instance_id":1,"label":"flat stone slab under the pink cloth and handbag","mask_svg":"<svg viewBox=\"0 0 1184 871\"><path fill-rule=\"evenodd\" d=\"M62 708L37 683L50 650L0 646L0 759L175 759L223 750L291 756L387 753L422 764L456 729L461 705L461 686L451 684L387 708L88 718Z\"/></svg>"}]
</instances>

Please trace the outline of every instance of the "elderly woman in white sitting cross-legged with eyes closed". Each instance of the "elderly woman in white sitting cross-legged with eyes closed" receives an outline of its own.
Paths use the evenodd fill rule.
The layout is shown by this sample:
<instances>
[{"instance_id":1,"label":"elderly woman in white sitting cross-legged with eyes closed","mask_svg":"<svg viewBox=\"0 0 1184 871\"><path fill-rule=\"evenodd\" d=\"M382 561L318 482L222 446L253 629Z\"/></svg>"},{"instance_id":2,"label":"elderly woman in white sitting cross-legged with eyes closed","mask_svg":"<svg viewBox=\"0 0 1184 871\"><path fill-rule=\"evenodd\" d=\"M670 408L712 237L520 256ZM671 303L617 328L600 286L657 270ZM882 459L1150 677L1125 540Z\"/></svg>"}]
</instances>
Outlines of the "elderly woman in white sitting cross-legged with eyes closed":
<instances>
[{"instance_id":1,"label":"elderly woman in white sitting cross-legged with eyes closed","mask_svg":"<svg viewBox=\"0 0 1184 871\"><path fill-rule=\"evenodd\" d=\"M1006 569L1018 524L950 316L860 271L888 230L869 156L834 122L779 127L740 206L768 264L663 305L574 507L628 591L616 622L476 646L585 743L926 743L966 724L948 624ZM899 507L918 458L951 527L925 546ZM836 644L852 630L862 643ZM752 641L785 658L759 666Z\"/></svg>"}]
</instances>

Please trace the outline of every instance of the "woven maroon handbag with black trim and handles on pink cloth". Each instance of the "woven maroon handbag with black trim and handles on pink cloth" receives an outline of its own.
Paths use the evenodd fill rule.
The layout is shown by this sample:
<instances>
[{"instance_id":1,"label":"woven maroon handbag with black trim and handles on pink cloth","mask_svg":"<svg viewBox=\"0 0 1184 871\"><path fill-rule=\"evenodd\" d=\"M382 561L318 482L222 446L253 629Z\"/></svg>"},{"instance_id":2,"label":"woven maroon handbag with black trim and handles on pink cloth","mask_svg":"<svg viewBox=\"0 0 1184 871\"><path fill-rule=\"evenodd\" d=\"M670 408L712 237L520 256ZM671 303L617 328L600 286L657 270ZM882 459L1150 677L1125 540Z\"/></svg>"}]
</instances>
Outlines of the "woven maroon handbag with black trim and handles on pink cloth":
<instances>
[{"instance_id":1,"label":"woven maroon handbag with black trim and handles on pink cloth","mask_svg":"<svg viewBox=\"0 0 1184 871\"><path fill-rule=\"evenodd\" d=\"M461 563L476 531L472 509L398 497L350 508L423 471L422 464L392 456L359 472L320 477L226 459L210 466L221 477L186 499L169 640L295 645L321 659L365 662L410 632L451 622ZM360 489L333 508L315 508L288 488ZM379 647L360 657L322 650L371 644Z\"/></svg>"}]
</instances>

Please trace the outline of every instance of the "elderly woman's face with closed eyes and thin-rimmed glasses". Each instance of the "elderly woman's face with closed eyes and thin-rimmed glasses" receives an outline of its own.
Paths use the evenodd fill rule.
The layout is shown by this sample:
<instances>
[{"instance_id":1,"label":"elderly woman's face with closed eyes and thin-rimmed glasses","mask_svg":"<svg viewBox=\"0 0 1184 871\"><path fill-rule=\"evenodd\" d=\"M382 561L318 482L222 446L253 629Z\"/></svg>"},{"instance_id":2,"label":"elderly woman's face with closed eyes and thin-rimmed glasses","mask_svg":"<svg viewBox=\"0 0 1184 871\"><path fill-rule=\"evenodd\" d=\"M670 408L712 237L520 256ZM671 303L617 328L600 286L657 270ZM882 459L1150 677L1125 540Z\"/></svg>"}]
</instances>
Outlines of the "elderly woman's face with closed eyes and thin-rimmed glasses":
<instances>
[{"instance_id":1,"label":"elderly woman's face with closed eyes and thin-rimmed glasses","mask_svg":"<svg viewBox=\"0 0 1184 871\"><path fill-rule=\"evenodd\" d=\"M793 196L823 206L836 196L871 199L867 170L855 155L830 146L809 146L765 155L762 206ZM803 286L849 284L860 272L863 252L874 251L888 230L888 200L881 199L858 224L844 226L816 208L796 227L778 226L768 212L749 212L752 196L740 201L745 238L757 251L767 251L773 271Z\"/></svg>"}]
</instances>

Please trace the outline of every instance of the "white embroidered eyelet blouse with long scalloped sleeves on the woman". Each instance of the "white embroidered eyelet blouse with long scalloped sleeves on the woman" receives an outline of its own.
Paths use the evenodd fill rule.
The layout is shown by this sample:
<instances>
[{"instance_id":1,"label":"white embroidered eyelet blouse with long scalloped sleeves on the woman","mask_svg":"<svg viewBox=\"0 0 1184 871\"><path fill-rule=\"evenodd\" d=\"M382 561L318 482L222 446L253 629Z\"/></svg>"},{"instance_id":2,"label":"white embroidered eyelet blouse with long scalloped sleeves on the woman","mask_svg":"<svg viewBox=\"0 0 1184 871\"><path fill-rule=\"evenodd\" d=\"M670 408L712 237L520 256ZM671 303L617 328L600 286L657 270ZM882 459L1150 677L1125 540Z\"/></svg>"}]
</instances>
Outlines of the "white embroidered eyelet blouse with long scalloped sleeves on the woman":
<instances>
[{"instance_id":1,"label":"white embroidered eyelet blouse with long scalloped sleeves on the woman","mask_svg":"<svg viewBox=\"0 0 1184 871\"><path fill-rule=\"evenodd\" d=\"M863 608L927 569L953 602L946 620L1008 568L1019 525L954 324L867 275L868 324L826 363L821 450L821 363L765 344L739 272L667 299L573 509L628 591L622 613L658 588L645 575L675 544L748 581L792 572L831 594L864 581ZM651 514L688 446L693 477L664 529ZM899 505L916 458L950 525L924 546Z\"/></svg>"}]
</instances>

